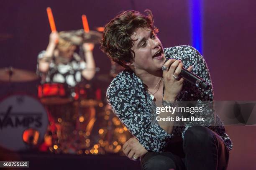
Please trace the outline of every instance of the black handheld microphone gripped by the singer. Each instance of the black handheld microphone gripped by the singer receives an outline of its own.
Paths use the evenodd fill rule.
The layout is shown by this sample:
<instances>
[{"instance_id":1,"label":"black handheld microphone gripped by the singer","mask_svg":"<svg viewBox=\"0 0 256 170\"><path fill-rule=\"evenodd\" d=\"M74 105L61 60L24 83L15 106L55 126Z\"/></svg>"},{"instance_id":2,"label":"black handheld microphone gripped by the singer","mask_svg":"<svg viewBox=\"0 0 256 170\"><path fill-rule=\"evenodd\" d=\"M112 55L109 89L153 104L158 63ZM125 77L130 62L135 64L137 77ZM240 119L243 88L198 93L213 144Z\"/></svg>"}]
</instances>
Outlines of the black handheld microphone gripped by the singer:
<instances>
[{"instance_id":1,"label":"black handheld microphone gripped by the singer","mask_svg":"<svg viewBox=\"0 0 256 170\"><path fill-rule=\"evenodd\" d=\"M168 59L166 61L168 61ZM210 89L210 85L207 84L205 80L201 79L199 76L195 75L194 73L188 71L184 67L182 68L182 71L179 74L179 76L182 76L183 79L189 81L191 84L194 84L201 89L205 89L205 90Z\"/></svg>"}]
</instances>

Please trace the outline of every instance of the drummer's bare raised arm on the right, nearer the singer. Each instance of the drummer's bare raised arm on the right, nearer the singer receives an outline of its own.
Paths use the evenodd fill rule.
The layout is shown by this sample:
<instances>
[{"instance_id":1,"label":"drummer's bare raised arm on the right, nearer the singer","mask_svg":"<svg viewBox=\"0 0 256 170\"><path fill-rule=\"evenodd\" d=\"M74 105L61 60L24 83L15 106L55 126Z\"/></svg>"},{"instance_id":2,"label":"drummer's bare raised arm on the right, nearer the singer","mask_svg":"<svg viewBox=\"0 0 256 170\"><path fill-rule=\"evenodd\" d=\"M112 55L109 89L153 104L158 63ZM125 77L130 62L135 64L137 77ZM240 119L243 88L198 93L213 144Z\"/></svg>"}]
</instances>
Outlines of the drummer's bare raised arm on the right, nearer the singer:
<instances>
[{"instance_id":1,"label":"drummer's bare raised arm on the right, nearer the singer","mask_svg":"<svg viewBox=\"0 0 256 170\"><path fill-rule=\"evenodd\" d=\"M95 75L95 61L92 55L92 51L94 48L93 43L84 43L83 50L84 50L84 59L86 62L86 69L82 71L82 76L84 79L90 80Z\"/></svg>"}]
</instances>

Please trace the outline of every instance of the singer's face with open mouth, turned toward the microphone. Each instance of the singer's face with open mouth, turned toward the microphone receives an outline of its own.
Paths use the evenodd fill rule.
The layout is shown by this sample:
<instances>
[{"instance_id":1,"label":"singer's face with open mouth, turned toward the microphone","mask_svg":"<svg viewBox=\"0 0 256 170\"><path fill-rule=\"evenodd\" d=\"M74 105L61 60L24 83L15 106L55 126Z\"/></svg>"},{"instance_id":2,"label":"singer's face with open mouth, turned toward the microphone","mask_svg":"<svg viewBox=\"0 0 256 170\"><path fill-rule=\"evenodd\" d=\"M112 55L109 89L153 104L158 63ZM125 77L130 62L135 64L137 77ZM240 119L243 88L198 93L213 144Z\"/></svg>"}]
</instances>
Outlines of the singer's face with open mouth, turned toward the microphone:
<instances>
[{"instance_id":1,"label":"singer's face with open mouth, turned toward the microphone","mask_svg":"<svg viewBox=\"0 0 256 170\"><path fill-rule=\"evenodd\" d=\"M165 57L163 46L154 31L150 28L138 28L131 38L134 40L135 53L131 69L135 72L155 73L161 70Z\"/></svg>"}]
</instances>

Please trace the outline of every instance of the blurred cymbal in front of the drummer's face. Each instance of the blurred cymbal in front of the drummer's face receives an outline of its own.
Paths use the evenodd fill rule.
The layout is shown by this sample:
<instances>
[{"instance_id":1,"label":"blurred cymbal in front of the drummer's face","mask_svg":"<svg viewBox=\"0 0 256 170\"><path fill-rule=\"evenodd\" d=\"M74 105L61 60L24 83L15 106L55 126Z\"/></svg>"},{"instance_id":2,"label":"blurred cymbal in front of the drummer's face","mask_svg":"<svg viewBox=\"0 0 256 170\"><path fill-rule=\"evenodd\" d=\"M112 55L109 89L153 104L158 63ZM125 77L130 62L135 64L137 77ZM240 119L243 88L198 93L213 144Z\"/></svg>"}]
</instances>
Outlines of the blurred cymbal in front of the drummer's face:
<instances>
[{"instance_id":1,"label":"blurred cymbal in front of the drummer's face","mask_svg":"<svg viewBox=\"0 0 256 170\"><path fill-rule=\"evenodd\" d=\"M74 45L80 45L82 43L100 43L102 38L102 33L90 30L89 33L85 33L83 29L81 30L69 30L59 32L60 38L66 41L74 43Z\"/></svg>"}]
</instances>

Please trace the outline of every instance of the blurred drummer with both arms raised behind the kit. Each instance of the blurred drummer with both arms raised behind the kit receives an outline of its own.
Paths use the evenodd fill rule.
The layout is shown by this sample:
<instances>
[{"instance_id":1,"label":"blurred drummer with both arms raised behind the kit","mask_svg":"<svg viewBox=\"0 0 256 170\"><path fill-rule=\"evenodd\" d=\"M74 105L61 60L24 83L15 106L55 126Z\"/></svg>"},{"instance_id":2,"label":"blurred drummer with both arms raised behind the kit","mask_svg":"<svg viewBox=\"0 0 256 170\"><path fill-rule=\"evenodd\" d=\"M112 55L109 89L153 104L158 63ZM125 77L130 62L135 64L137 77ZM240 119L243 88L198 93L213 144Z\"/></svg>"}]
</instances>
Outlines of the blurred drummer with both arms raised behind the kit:
<instances>
[{"instance_id":1,"label":"blurred drummer with both arms raised behind the kit","mask_svg":"<svg viewBox=\"0 0 256 170\"><path fill-rule=\"evenodd\" d=\"M75 53L76 48L74 43L61 38L58 32L50 34L46 50L38 54L37 72L41 76L41 84L63 83L74 87L83 79L94 77L94 44L83 43L82 55Z\"/></svg>"}]
</instances>

